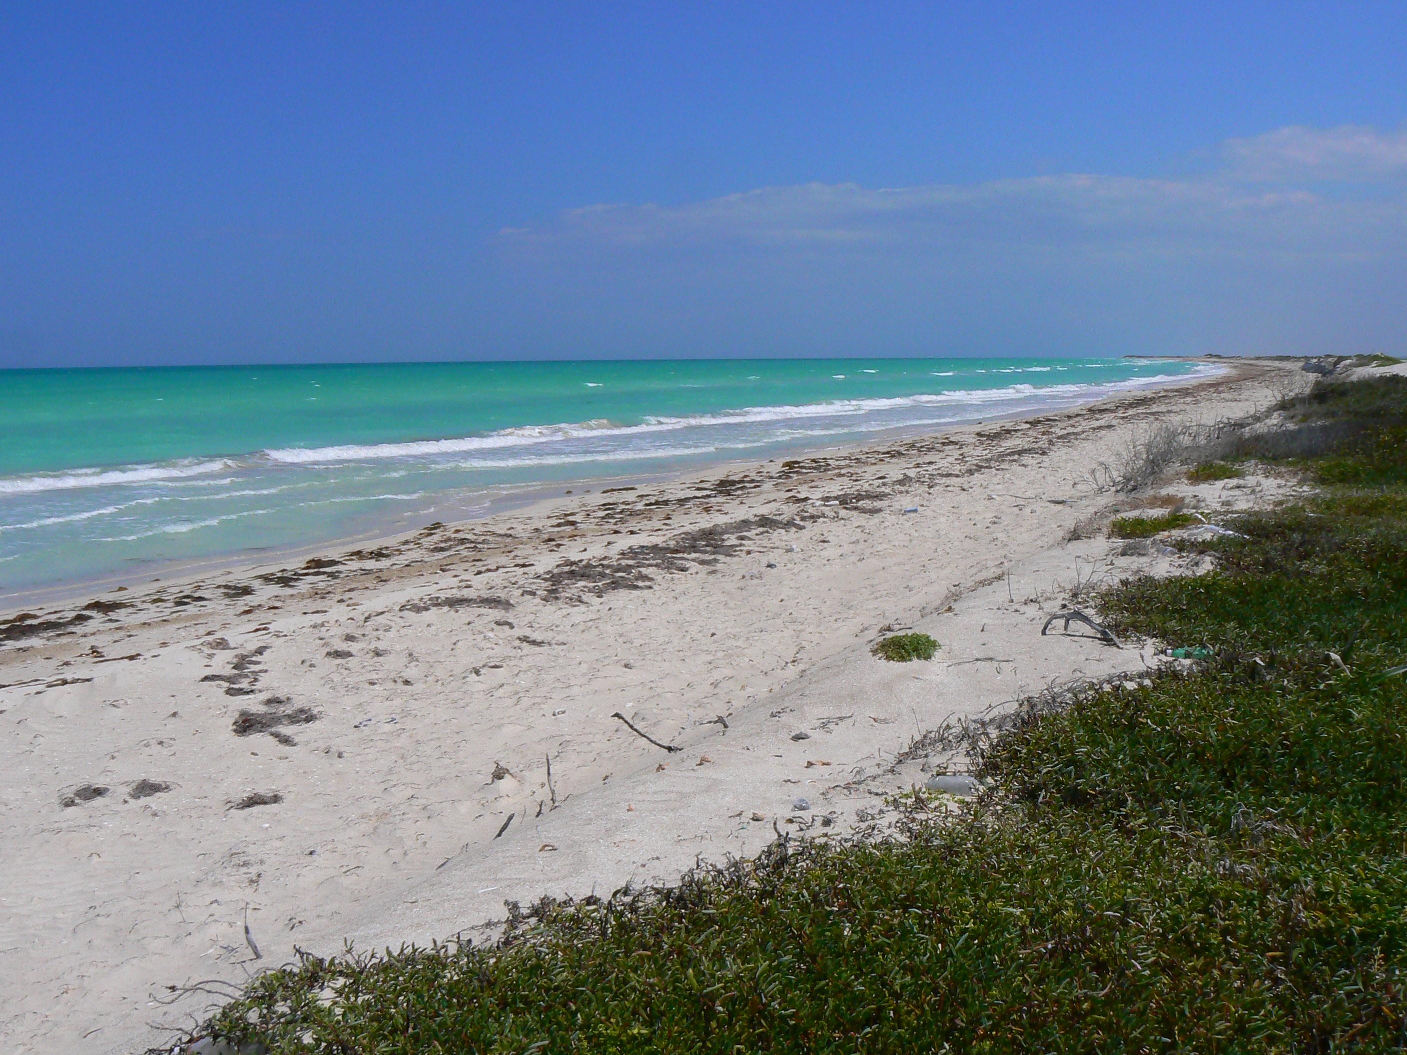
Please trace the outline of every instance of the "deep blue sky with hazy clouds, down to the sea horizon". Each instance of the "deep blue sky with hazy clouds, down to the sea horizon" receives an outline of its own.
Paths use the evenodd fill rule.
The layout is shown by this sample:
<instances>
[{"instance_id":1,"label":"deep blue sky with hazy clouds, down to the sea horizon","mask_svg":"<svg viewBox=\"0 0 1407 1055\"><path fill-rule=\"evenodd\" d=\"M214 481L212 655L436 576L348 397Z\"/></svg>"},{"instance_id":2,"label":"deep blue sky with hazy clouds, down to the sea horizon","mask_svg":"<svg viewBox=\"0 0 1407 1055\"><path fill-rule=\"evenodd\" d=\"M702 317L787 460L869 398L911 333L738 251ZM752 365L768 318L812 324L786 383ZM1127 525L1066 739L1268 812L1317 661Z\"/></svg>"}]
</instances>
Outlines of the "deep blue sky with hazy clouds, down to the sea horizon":
<instances>
[{"instance_id":1,"label":"deep blue sky with hazy clouds, down to the sea horizon","mask_svg":"<svg viewBox=\"0 0 1407 1055\"><path fill-rule=\"evenodd\" d=\"M1407 4L0 6L0 366L1407 352Z\"/></svg>"}]
</instances>

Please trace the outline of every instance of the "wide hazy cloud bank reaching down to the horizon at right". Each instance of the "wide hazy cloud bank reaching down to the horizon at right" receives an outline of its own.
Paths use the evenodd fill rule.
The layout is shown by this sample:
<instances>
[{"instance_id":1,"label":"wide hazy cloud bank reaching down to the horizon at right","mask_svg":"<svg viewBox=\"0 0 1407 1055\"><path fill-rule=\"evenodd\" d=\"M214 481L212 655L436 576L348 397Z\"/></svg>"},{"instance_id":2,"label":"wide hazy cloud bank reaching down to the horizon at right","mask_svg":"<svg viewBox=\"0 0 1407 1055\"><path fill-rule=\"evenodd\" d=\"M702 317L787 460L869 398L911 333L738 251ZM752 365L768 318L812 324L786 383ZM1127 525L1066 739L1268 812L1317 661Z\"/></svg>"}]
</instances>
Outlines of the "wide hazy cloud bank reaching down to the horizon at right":
<instances>
[{"instance_id":1,"label":"wide hazy cloud bank reaching down to the horizon at right","mask_svg":"<svg viewBox=\"0 0 1407 1055\"><path fill-rule=\"evenodd\" d=\"M530 325L575 319L608 353L1401 349L1403 149L1286 128L1196 176L763 187L498 246Z\"/></svg>"}]
</instances>

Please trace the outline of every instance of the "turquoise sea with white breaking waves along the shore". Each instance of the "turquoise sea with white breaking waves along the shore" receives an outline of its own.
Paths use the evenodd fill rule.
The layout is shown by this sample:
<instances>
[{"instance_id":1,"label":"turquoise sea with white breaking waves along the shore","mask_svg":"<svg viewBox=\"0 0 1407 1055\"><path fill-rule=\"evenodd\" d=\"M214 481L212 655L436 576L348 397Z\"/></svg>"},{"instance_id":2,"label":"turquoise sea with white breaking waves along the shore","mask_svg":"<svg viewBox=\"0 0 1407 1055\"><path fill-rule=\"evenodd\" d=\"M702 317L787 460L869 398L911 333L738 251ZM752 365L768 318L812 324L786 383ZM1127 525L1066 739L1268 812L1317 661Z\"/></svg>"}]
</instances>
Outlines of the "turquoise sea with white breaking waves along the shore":
<instances>
[{"instance_id":1,"label":"turquoise sea with white breaking waves along the shore","mask_svg":"<svg viewBox=\"0 0 1407 1055\"><path fill-rule=\"evenodd\" d=\"M0 596L484 513L525 491L1072 407L1214 367L688 360L0 371Z\"/></svg>"}]
</instances>

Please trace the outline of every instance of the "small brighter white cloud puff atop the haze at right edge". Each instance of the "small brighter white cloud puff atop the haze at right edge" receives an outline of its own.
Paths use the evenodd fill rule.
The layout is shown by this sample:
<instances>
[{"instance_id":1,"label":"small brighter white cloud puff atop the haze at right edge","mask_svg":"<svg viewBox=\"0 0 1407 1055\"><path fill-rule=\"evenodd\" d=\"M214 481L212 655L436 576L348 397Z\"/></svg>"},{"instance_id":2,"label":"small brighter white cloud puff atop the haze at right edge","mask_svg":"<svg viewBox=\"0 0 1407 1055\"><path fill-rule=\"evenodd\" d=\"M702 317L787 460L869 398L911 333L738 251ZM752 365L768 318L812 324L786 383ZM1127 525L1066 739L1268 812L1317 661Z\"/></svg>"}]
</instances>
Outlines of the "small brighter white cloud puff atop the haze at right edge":
<instances>
[{"instance_id":1,"label":"small brighter white cloud puff atop the haze at right edge","mask_svg":"<svg viewBox=\"0 0 1407 1055\"><path fill-rule=\"evenodd\" d=\"M1407 177L1407 131L1363 125L1279 128L1224 145L1233 174L1244 180L1373 181Z\"/></svg>"}]
</instances>

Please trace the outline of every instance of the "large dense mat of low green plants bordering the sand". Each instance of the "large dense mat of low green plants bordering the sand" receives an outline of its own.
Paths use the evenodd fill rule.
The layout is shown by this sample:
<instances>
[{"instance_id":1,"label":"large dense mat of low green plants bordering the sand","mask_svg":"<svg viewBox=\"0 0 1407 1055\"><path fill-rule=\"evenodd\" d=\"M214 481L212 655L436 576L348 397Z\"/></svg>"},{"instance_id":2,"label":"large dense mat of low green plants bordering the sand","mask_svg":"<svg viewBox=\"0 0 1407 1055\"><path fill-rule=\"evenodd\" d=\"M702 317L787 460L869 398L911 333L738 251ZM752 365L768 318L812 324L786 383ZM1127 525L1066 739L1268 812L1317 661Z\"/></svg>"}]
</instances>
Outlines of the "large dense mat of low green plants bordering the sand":
<instances>
[{"instance_id":1,"label":"large dense mat of low green plants bordering the sand","mask_svg":"<svg viewBox=\"0 0 1407 1055\"><path fill-rule=\"evenodd\" d=\"M960 814L916 792L886 838L543 903L495 947L308 958L210 1030L349 1055L1400 1051L1407 378L1283 409L1306 435L1280 464L1318 491L1176 543L1209 573L1099 596L1120 634L1214 656L1029 701L974 740L992 789Z\"/></svg>"}]
</instances>

